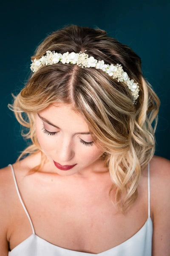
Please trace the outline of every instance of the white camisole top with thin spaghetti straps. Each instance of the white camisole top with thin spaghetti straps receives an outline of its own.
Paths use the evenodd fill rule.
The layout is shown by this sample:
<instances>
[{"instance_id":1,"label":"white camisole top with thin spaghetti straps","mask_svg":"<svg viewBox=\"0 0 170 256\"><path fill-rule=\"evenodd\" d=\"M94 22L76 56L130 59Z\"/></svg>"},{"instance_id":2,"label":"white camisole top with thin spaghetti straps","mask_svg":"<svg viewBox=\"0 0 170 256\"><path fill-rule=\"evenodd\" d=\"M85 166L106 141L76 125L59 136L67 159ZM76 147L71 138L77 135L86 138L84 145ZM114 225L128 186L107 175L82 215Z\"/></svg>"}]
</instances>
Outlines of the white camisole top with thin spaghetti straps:
<instances>
[{"instance_id":1,"label":"white camisole top with thin spaghetti straps","mask_svg":"<svg viewBox=\"0 0 170 256\"><path fill-rule=\"evenodd\" d=\"M102 253L85 253L74 250L65 249L57 245L51 244L50 242L42 239L40 236L37 236L32 224L31 218L28 214L28 211L23 203L21 198L16 177L14 174L14 169L11 164L12 175L14 178L14 183L16 186L18 197L20 202L23 205L23 208L28 216L30 221L32 234L27 239L22 241L11 251L8 251L8 256L151 256L152 253L152 234L153 234L153 222L150 218L150 166L148 163L148 218L144 223L142 228L131 236L129 239L124 241L122 244L119 244L109 250L106 250Z\"/></svg>"}]
</instances>

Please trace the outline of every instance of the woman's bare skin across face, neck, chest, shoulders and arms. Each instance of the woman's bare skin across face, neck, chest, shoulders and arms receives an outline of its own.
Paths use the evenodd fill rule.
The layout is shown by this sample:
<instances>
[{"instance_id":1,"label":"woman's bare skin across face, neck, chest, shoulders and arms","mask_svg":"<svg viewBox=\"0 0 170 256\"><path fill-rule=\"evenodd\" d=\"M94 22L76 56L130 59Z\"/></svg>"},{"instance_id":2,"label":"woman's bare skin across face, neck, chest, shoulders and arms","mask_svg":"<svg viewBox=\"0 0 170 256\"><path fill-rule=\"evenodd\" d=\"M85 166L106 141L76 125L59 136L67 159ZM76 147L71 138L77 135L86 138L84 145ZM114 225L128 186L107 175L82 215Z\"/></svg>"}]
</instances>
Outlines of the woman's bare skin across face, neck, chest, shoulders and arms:
<instances>
[{"instance_id":1,"label":"woman's bare skin across face, neck, chest, shoulders and arms","mask_svg":"<svg viewBox=\"0 0 170 256\"><path fill-rule=\"evenodd\" d=\"M62 126L62 113L61 111L60 116L53 123L60 125L59 127L68 127L67 123ZM70 113L68 110L68 116ZM53 120L50 119L54 114L51 109L48 114L47 112L42 112L42 114L43 116L46 114L48 120ZM59 117L61 117L60 124ZM45 135L45 138L44 134L40 134L40 119L38 116L36 118L38 139L49 162L41 172L33 175L27 174L31 168L40 163L40 153L13 164L20 194L30 214L36 235L59 247L95 254L111 249L135 235L148 218L147 168L139 180L136 202L127 215L117 213L108 197L112 184L109 172L98 160L101 152L95 146L85 148L85 145L78 143L77 137L70 137L73 131L88 131L88 127L85 127L83 122L80 124L77 119L78 126L75 127L76 122L69 122L69 132L62 130L61 135L57 135L57 141L54 140L54 136L51 136L53 140L49 140L47 137L50 136ZM48 125L48 130L49 128ZM53 131L57 129L53 128ZM88 142L91 141L91 135L84 135L81 138ZM54 166L52 159L62 165L77 163L77 169L61 171ZM165 180L170 181L169 172L166 171L168 169L170 170L169 160L154 156L150 161L150 217L156 227L155 229L153 227L154 256L167 256L166 253L161 254L162 248L167 253L170 250L170 247L165 248L170 233L165 230L163 223L158 226L159 221L155 221L158 219L158 214L159 216L161 214L159 209L162 207L162 193L164 193L165 201L167 200L164 185ZM3 221L1 222L4 225L0 249L2 248L2 255L6 256L8 247L12 250L27 239L31 236L32 229L17 196L10 166L0 169L0 180L0 188L3 192L3 197L0 198L0 204L3 204L1 214ZM159 195L156 193L158 187L160 188ZM168 212L167 214L170 215ZM168 218L170 219L170 217L165 217L170 223ZM163 234L165 240L167 239L167 243L163 240L158 244L160 233Z\"/></svg>"}]
</instances>

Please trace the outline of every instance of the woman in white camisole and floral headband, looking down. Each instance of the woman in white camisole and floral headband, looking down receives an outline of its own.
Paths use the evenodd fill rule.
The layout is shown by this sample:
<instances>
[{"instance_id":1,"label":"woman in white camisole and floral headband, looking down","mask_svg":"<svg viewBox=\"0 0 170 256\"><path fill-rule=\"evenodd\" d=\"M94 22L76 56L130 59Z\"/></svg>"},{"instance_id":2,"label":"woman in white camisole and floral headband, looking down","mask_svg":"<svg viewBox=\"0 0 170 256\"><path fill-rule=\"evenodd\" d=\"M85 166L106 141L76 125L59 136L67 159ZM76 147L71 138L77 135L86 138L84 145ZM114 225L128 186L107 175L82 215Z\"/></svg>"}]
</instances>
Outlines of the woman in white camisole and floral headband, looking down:
<instances>
[{"instance_id":1,"label":"woman in white camisole and floral headband, looking down","mask_svg":"<svg viewBox=\"0 0 170 256\"><path fill-rule=\"evenodd\" d=\"M139 56L70 25L31 61L9 104L32 143L0 170L1 255L169 256L170 161Z\"/></svg>"}]
</instances>

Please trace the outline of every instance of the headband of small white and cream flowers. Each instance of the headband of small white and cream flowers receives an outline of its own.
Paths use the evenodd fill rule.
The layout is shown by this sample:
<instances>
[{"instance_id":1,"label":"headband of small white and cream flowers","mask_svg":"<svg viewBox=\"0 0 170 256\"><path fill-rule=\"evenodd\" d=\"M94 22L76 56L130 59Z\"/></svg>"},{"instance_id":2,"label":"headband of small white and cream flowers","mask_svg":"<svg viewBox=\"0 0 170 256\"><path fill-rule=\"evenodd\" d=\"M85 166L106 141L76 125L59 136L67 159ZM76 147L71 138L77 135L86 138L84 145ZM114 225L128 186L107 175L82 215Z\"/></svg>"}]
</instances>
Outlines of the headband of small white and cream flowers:
<instances>
[{"instance_id":1,"label":"headband of small white and cream flowers","mask_svg":"<svg viewBox=\"0 0 170 256\"><path fill-rule=\"evenodd\" d=\"M87 51L87 50L85 50ZM32 61L32 60L31 60ZM113 79L116 79L118 82L124 82L131 91L133 97L133 104L136 104L136 99L139 97L139 85L134 83L134 80L128 77L127 73L123 71L121 64L109 65L105 62L97 61L93 56L88 57L88 54L85 52L75 53L75 52L65 52L63 54L57 53L55 51L46 51L46 55L42 56L40 59L34 59L31 64L31 70L36 72L40 67L44 65L52 65L61 61L63 64L71 63L77 64L79 67L95 67L96 69L101 69L109 76L112 76Z\"/></svg>"}]
</instances>

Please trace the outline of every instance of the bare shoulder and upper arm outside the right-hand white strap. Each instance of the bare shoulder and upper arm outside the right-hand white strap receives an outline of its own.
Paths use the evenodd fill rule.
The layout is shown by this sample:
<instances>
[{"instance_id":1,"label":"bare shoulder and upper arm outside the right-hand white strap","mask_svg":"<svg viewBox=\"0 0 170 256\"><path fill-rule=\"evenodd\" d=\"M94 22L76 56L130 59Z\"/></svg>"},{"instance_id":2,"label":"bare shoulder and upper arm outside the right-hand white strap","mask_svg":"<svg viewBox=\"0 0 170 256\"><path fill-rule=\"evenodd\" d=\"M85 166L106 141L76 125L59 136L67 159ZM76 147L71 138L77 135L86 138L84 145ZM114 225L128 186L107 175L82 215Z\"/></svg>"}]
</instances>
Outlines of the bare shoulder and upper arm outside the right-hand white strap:
<instances>
[{"instance_id":1,"label":"bare shoulder and upper arm outside the right-hand white strap","mask_svg":"<svg viewBox=\"0 0 170 256\"><path fill-rule=\"evenodd\" d=\"M170 160L154 156L150 161L150 192L153 204L152 255L170 255Z\"/></svg>"}]
</instances>

